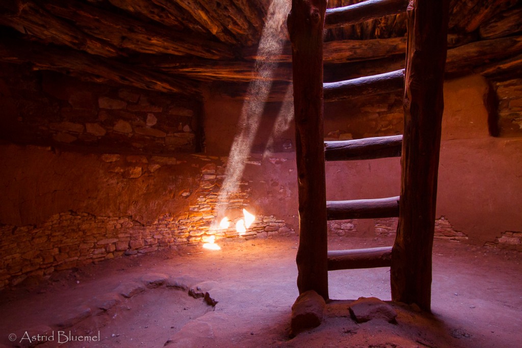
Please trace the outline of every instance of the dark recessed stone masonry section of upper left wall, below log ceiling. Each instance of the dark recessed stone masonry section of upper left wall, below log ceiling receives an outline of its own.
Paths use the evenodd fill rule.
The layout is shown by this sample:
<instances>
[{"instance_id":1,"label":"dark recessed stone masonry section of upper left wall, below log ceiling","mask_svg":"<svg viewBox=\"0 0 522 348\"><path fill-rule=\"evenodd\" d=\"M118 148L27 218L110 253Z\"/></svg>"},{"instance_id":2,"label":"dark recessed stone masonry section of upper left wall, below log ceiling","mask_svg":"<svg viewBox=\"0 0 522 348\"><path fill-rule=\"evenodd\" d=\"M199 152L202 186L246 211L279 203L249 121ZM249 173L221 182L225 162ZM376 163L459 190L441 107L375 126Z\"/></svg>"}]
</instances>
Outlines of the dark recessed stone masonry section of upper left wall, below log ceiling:
<instances>
[{"instance_id":1,"label":"dark recessed stone masonry section of upper left wall, below log ceiling","mask_svg":"<svg viewBox=\"0 0 522 348\"><path fill-rule=\"evenodd\" d=\"M6 139L134 153L199 149L198 100L11 70L0 73L0 136Z\"/></svg>"}]
</instances>

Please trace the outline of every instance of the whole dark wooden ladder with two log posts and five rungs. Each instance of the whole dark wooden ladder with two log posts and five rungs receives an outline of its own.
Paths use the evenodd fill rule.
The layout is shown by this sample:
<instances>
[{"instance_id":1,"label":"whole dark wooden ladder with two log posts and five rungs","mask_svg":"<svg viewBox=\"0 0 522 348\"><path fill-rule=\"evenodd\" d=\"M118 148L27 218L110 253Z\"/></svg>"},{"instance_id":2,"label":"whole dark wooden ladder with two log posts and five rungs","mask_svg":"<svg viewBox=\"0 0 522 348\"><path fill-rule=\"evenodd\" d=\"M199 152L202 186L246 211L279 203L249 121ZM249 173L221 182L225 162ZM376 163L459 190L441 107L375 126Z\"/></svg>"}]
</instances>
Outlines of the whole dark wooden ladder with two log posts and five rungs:
<instances>
[{"instance_id":1,"label":"whole dark wooden ladder with two log posts and five rungs","mask_svg":"<svg viewBox=\"0 0 522 348\"><path fill-rule=\"evenodd\" d=\"M392 299L431 309L432 247L443 112L449 0L368 0L326 9L326 0L292 0L292 42L300 243L299 293L325 300L328 271L390 267ZM408 14L406 68L323 83L323 30ZM324 141L323 101L404 89L401 136ZM326 201L325 160L401 157L400 196ZM400 197L400 198L399 198ZM327 221L399 217L393 247L328 251Z\"/></svg>"}]
</instances>

